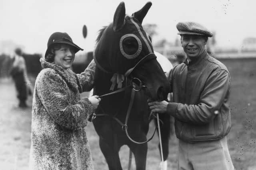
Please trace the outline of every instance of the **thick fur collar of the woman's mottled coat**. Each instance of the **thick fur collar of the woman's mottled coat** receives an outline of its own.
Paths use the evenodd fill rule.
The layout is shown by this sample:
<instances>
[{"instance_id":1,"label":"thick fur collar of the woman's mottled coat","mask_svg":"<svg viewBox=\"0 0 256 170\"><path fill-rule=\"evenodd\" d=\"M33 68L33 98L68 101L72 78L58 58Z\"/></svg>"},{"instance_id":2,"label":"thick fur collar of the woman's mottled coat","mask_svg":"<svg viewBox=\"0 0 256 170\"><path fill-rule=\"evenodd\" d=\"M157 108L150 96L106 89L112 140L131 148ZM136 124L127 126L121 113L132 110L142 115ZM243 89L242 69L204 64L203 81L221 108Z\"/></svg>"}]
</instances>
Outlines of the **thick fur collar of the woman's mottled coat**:
<instances>
[{"instance_id":1,"label":"thick fur collar of the woman's mottled coat","mask_svg":"<svg viewBox=\"0 0 256 170\"><path fill-rule=\"evenodd\" d=\"M43 58L40 59L40 62L42 68L52 68L54 71L56 71L63 78L71 90L78 90L80 93L82 93L82 86L80 84L79 78L74 72L72 72L72 70L64 69L55 63L49 63Z\"/></svg>"}]
</instances>

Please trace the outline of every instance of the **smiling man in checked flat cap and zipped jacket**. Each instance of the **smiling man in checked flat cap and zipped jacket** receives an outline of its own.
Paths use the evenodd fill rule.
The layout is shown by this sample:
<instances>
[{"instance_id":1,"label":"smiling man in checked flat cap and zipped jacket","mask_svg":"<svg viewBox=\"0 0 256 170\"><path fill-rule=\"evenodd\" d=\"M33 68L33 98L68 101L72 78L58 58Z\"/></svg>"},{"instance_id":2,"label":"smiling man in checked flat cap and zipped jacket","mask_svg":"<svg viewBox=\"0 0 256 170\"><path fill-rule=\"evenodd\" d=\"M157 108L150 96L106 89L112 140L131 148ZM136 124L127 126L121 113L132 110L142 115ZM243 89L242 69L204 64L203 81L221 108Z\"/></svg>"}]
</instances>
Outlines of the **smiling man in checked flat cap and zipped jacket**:
<instances>
[{"instance_id":1,"label":"smiling man in checked flat cap and zipped jacket","mask_svg":"<svg viewBox=\"0 0 256 170\"><path fill-rule=\"evenodd\" d=\"M209 56L205 45L212 33L195 22L176 25L187 58L168 75L173 102L151 102L153 112L175 119L179 170L233 170L226 135L231 119L230 74Z\"/></svg>"}]
</instances>

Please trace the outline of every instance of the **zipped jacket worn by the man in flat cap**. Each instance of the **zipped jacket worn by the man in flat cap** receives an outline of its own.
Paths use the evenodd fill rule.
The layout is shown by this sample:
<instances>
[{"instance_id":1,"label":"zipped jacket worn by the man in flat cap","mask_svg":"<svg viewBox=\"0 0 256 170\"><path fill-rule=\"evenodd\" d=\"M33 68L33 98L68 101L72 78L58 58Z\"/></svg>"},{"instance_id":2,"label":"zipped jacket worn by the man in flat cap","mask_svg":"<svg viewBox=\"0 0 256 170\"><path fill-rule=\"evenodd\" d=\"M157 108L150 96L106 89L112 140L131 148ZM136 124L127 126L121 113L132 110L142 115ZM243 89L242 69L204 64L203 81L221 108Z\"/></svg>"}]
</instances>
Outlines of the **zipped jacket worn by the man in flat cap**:
<instances>
[{"instance_id":1,"label":"zipped jacket worn by the man in flat cap","mask_svg":"<svg viewBox=\"0 0 256 170\"><path fill-rule=\"evenodd\" d=\"M188 143L221 139L231 127L230 74L206 51L175 66L168 76L173 103L167 112L175 118L178 139Z\"/></svg>"}]
</instances>

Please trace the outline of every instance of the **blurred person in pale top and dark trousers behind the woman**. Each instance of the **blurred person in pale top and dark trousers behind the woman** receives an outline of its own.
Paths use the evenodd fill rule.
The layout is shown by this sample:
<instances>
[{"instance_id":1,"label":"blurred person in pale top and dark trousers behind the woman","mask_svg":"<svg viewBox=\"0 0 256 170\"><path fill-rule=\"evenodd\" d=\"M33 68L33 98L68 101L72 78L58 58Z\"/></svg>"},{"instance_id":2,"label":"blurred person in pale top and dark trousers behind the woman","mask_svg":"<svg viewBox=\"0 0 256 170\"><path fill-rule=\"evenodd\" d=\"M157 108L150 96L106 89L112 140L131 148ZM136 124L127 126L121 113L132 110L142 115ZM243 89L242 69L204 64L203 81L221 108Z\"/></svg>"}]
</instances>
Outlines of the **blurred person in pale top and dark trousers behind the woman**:
<instances>
[{"instance_id":1,"label":"blurred person in pale top and dark trousers behind the woman","mask_svg":"<svg viewBox=\"0 0 256 170\"><path fill-rule=\"evenodd\" d=\"M14 61L10 69L10 75L14 80L14 84L17 91L17 98L19 100L19 107L27 107L26 100L28 94L32 94L30 87L28 86L28 76L26 70L26 63L22 57L22 50L20 48L15 49Z\"/></svg>"}]
</instances>

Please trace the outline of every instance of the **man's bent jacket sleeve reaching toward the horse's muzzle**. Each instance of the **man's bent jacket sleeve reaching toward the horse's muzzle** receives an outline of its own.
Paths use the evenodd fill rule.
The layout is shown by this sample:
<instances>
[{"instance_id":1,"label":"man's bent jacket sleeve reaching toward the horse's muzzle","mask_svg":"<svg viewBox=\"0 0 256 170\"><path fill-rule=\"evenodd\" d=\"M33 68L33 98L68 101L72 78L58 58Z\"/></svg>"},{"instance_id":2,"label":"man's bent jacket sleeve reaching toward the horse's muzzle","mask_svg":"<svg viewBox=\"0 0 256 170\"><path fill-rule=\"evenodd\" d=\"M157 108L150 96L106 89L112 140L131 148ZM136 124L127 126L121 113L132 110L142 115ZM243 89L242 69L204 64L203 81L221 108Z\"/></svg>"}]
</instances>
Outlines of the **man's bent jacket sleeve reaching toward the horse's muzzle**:
<instances>
[{"instance_id":1,"label":"man's bent jacket sleeve reaching toward the horse's muzzle","mask_svg":"<svg viewBox=\"0 0 256 170\"><path fill-rule=\"evenodd\" d=\"M196 105L169 103L167 112L179 121L192 124L206 124L219 113L223 102L230 93L230 75L226 70L219 70L210 75L200 100Z\"/></svg>"}]
</instances>

